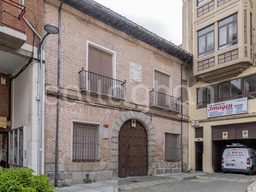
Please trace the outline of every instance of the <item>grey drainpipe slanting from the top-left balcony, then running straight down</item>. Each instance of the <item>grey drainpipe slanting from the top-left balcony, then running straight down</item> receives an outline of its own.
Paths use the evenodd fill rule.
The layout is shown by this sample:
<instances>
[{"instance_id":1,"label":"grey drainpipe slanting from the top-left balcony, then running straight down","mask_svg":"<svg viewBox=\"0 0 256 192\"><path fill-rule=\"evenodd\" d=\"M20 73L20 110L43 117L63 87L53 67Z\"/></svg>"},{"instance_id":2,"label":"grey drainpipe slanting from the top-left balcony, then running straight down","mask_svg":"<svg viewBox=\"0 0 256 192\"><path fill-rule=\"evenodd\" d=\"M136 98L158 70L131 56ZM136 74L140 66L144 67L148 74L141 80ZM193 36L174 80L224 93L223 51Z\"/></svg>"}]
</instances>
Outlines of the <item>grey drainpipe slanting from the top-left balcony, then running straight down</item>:
<instances>
[{"instance_id":1,"label":"grey drainpipe slanting from the top-left balcony, then running straight down","mask_svg":"<svg viewBox=\"0 0 256 192\"><path fill-rule=\"evenodd\" d=\"M30 24L27 19L25 19L25 16L22 16L22 19L25 21L25 23L29 26L29 28L32 30L32 32L39 38L39 45L42 42L42 37L39 35L39 33L34 29L34 27ZM39 159L38 159L38 175L42 173L42 130L43 130L43 47L38 47L40 50L37 50L37 57L39 58L39 87L40 87L40 95L39 95ZM40 53L40 55L39 55Z\"/></svg>"}]
</instances>

